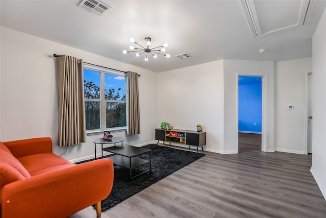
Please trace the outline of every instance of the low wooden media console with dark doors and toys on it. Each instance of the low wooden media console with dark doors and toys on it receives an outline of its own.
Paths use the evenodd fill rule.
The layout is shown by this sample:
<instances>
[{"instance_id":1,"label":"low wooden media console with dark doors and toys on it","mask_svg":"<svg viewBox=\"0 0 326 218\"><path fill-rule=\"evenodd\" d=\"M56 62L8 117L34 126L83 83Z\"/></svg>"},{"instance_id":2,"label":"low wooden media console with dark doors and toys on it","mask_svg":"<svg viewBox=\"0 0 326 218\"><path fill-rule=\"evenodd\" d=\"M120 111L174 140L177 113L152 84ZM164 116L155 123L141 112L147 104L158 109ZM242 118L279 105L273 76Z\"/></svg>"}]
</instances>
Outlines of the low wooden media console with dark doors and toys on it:
<instances>
[{"instance_id":1,"label":"low wooden media console with dark doors and toys on it","mask_svg":"<svg viewBox=\"0 0 326 218\"><path fill-rule=\"evenodd\" d=\"M170 146L171 143L184 144L189 146L189 149L191 146L196 146L198 152L198 147L202 147L203 150L203 146L206 144L206 132L179 129L165 130L156 128L155 140L157 140L157 144L159 141L163 141L163 143L169 142Z\"/></svg>"}]
</instances>

